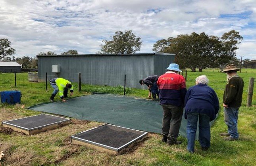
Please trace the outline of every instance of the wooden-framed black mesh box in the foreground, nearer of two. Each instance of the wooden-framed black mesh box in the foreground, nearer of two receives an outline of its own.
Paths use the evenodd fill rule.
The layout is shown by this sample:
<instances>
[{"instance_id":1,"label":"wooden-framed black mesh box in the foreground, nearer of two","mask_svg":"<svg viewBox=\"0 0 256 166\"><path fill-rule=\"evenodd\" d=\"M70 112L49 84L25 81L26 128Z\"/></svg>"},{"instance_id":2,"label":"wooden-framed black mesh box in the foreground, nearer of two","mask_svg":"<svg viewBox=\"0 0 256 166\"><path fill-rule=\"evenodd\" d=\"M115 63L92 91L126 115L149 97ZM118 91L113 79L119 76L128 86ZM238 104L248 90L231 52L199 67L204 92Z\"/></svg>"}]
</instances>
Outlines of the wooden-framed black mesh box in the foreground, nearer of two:
<instances>
[{"instance_id":1,"label":"wooden-framed black mesh box in the foreground, nearer of two","mask_svg":"<svg viewBox=\"0 0 256 166\"><path fill-rule=\"evenodd\" d=\"M104 124L71 136L71 143L85 145L101 152L120 154L143 141L147 132L133 130L112 124Z\"/></svg>"}]
</instances>

